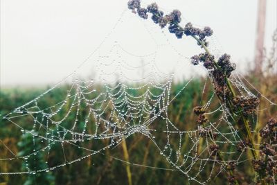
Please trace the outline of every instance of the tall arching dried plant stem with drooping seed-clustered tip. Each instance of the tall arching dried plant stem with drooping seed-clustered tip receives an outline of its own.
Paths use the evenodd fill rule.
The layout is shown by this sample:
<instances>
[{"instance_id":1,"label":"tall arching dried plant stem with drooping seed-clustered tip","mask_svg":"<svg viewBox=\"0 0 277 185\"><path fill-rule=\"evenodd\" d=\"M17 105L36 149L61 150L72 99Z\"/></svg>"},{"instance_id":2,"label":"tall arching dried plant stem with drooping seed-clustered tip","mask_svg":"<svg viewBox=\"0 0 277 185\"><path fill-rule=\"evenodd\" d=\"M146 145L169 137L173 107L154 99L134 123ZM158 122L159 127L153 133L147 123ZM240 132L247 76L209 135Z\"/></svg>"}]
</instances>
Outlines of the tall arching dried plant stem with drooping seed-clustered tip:
<instances>
[{"instance_id":1,"label":"tall arching dried plant stem with drooping seed-clustered tip","mask_svg":"<svg viewBox=\"0 0 277 185\"><path fill-rule=\"evenodd\" d=\"M252 155L253 159L257 160L258 155L256 154L255 146L254 146L252 135L251 135L249 118L248 118L247 114L244 114L244 112L243 112L244 109L236 106L235 98L237 98L237 96L236 96L235 91L233 90L231 81L229 80L231 71L233 71L235 68L231 67L231 71L230 71L230 69L228 71L226 71L224 66L221 66L221 64L217 63L217 60L214 59L214 56L211 55L210 51L207 48L207 45L206 45L207 43L206 43L205 37L211 36L213 34L213 31L211 30L211 28L206 27L206 28L204 28L204 33L203 32L201 33L202 30L200 30L200 33L197 33L197 32L199 32L199 30L197 30L197 29L192 30L192 31L189 30L190 27L192 27L192 24L187 24L185 28L179 26L179 22L181 21L181 12L179 12L179 10L174 10L170 15L166 15L168 17L165 16L166 18L163 19L163 12L158 10L158 6L156 3L153 3L152 5L148 6L147 9L145 9L145 8L140 8L139 0L137 0L137 1L133 0L133 1L129 1L128 8L133 10L133 12L136 12L135 9L137 9L139 16L143 19L148 18L147 12L152 13L153 21L156 24L159 23L161 28L163 28L164 26L166 26L166 24L168 24L170 22L170 24L171 24L169 27L170 33L175 33L175 35L178 38L181 38L183 35L192 36L197 41L197 44L202 46L202 48L206 51L205 54L208 55L208 57L211 56L211 58L212 58L211 60L203 61L203 59L202 59L202 61L200 61L200 62L206 62L206 66L204 63L204 66L206 67L206 69L214 69L214 70L216 70L215 71L216 73L219 72L220 76L223 76L223 80L224 80L223 88L226 88L229 93L226 94L225 90L223 90L224 98L222 98L221 94L217 94L217 98L219 98L220 102L223 105L226 105L226 108L229 109L230 114L233 116L233 121L238 126L238 128L240 130L242 130L242 136L244 138L244 141L247 142L247 146L249 146L249 148L251 150L251 155ZM186 28L188 28L188 30L186 30ZM224 56L224 55L222 55L222 56ZM197 56L197 57L199 58L199 56ZM226 58L226 56L225 56L225 58ZM206 60L206 59L204 59L204 60ZM195 64L198 64L198 62L199 61L196 60ZM214 74L213 74L213 77L215 77ZM215 86L215 88L217 87L217 85L220 85L220 84L218 84L217 79L215 79L215 78L213 78L213 85ZM222 155L220 153L220 150L218 150L218 148L217 148L217 155L221 159L223 159ZM224 163L224 165L226 164L226 162L224 162L224 161L223 161L223 163ZM253 166L253 164L252 164L252 166ZM232 175L232 173L233 172L230 172L231 175ZM260 182L262 184L266 184L261 171L258 171L258 175L260 178ZM235 179L235 184L238 184L236 179Z\"/></svg>"}]
</instances>

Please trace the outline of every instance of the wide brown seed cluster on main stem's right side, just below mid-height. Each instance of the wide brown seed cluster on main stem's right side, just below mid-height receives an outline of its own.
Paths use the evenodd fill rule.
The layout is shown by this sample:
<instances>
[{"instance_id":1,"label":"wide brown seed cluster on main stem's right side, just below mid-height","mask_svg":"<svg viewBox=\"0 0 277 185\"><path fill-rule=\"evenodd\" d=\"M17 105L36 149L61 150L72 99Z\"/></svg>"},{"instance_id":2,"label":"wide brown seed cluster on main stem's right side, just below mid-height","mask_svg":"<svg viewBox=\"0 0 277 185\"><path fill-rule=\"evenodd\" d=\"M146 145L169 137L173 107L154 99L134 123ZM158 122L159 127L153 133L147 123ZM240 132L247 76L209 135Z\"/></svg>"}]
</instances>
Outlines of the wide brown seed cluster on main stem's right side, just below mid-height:
<instances>
[{"instance_id":1,"label":"wide brown seed cluster on main stem's right side, just below mid-height","mask_svg":"<svg viewBox=\"0 0 277 185\"><path fill-rule=\"evenodd\" d=\"M233 104L235 109L242 109L244 115L251 115L256 113L260 100L257 97L244 98L242 96L236 96L233 98Z\"/></svg>"}]
</instances>

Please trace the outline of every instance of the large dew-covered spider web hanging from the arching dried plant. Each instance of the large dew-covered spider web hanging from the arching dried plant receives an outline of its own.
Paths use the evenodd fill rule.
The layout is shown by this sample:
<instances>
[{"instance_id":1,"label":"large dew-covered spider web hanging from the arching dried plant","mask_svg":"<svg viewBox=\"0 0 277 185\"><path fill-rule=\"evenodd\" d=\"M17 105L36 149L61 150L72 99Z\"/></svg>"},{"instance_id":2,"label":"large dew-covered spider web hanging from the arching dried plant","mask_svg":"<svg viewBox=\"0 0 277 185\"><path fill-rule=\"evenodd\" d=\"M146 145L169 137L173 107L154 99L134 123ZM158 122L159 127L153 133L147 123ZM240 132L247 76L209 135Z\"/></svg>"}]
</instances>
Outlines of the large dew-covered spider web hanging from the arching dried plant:
<instances>
[{"instance_id":1,"label":"large dew-covered spider web hanging from the arching dried plant","mask_svg":"<svg viewBox=\"0 0 277 185\"><path fill-rule=\"evenodd\" d=\"M220 56L216 37L209 42L211 53ZM131 166L179 171L189 182L206 184L225 173L230 162L240 165L251 160L243 151L249 148L247 145L238 150L242 136L226 105L217 100L211 76L204 67L190 64L190 57L201 51L198 47L193 39L175 39L151 21L123 12L103 42L73 73L4 117L7 127L21 132L22 140L28 136L33 139L33 150L22 154L0 138L0 146L6 151L1 163L28 164L33 156L42 155L46 165L27 165L21 171L0 170L0 175L35 175L102 155ZM196 78L203 78L204 83L195 84ZM269 106L276 106L239 73L230 79L240 96L260 96ZM177 82L181 85L175 87ZM195 85L201 85L195 88L201 99L195 100L195 106L206 109L208 123L204 126L190 121L197 117L193 109L184 109L191 104L188 99L179 102L179 97L186 97ZM53 92L60 96L54 97ZM49 97L52 102L47 102ZM177 111L185 111L182 120L171 111L175 106ZM139 164L112 155L114 148L136 136L150 140L168 167L155 166L151 161ZM219 146L222 156L212 150L213 144ZM63 153L63 159L50 162L57 150ZM69 150L82 152L69 156ZM110 150L110 155L105 156L105 150Z\"/></svg>"}]
</instances>

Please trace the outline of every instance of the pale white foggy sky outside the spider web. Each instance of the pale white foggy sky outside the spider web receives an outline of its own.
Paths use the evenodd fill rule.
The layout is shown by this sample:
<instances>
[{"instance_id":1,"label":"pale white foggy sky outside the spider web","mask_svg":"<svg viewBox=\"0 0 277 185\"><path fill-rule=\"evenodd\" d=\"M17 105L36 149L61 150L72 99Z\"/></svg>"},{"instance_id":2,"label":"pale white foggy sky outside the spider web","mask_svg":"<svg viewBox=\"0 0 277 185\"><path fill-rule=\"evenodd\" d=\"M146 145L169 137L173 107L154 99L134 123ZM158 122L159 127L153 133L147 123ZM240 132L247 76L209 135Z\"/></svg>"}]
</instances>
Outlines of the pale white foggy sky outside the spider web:
<instances>
[{"instance_id":1,"label":"pale white foggy sky outside the spider web","mask_svg":"<svg viewBox=\"0 0 277 185\"><path fill-rule=\"evenodd\" d=\"M143 4L152 2L154 1L147 0L143 1ZM222 52L231 54L240 70L248 66L247 61L253 60L257 0L156 2L166 13L179 9L184 21L213 28L217 47ZM1 87L42 85L60 81L96 49L126 6L127 0L2 0ZM276 0L267 0L265 46L268 48L271 46L271 35L277 27L276 7ZM126 21L123 21L115 35L111 35L112 39L125 39L123 46L131 51L134 47L134 52L141 51L138 55L148 51L151 53L148 48L151 44L146 43L148 46L143 50L137 42L133 43L132 38L142 40L143 37L139 27L135 25L139 17L127 11L123 18ZM145 24L150 25L153 32L161 31L159 26L153 25L150 20L145 21ZM143 27L143 24L139 26ZM172 43L177 44L177 47L179 43L186 42L186 38L168 38L174 39ZM184 50L189 51L188 53L199 53L197 49ZM159 56L169 60L168 53L161 52ZM168 69L170 62L161 60L159 65L161 69ZM80 73L84 72L81 70Z\"/></svg>"}]
</instances>

